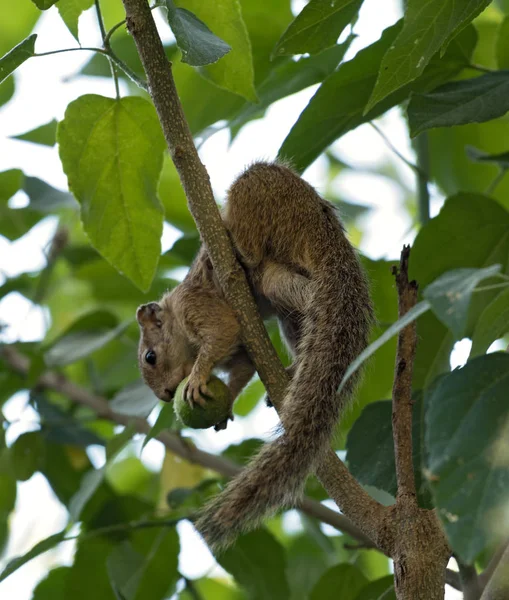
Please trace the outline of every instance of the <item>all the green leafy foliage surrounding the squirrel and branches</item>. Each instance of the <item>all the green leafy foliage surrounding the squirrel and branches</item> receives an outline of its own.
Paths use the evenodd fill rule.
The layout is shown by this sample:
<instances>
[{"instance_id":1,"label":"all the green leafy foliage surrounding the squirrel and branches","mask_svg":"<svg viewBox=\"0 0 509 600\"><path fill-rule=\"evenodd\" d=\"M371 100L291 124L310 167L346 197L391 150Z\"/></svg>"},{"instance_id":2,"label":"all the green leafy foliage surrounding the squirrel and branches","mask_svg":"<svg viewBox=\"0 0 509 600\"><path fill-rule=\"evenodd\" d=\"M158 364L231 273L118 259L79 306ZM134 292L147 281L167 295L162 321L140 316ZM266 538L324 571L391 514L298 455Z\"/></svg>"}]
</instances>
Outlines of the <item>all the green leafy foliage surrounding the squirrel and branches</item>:
<instances>
[{"instance_id":1,"label":"all the green leafy foliage surrounding the squirrel and branches","mask_svg":"<svg viewBox=\"0 0 509 600\"><path fill-rule=\"evenodd\" d=\"M310 0L292 15L290 0L165 0L155 10L164 17L166 36L167 24L175 36L165 49L197 140L225 128L234 139L276 101L311 86L316 89L308 105L279 149L299 171L318 157L329 182L355 171L339 159L334 142L395 106L408 119L409 135L426 136L429 182L444 198L429 222L417 221L415 198L399 171L388 165L379 170L406 190L401 211L412 219L416 234L410 268L420 286L419 304L398 321L393 263L363 259L377 324L373 344L352 365L353 370L369 357L358 401L339 426L337 447L347 440L347 461L361 483L395 494L387 398L395 336L417 319L413 435L419 502L437 508L454 552L479 567L509 535L509 359L488 353L495 342L495 348L503 347L500 340L507 346L509 334L509 181L504 177L509 17L502 2L408 0L400 21L353 54L362 4ZM0 299L17 292L44 307L49 322L43 339L17 344L29 361L26 377L0 361L0 408L25 391L39 419L36 431L15 435L15 423L0 413L0 548L9 539L17 487L23 485L17 482L36 472L69 515L63 531L4 565L0 581L64 540L76 539L72 564L49 571L34 590L35 600L92 595L162 600L174 593L182 600L392 598L385 557L352 549L346 535L330 534L310 518L302 518L298 532L289 531L279 516L241 537L219 557L232 580L189 581L179 571L176 525L192 519L217 491L217 474L169 452L160 473L154 473L140 458L132 426L118 433L90 407L76 404L71 388L36 385L51 369L72 389L107 399L124 424L147 417L157 400L139 380L135 309L173 287L177 270L189 266L199 245L134 44L125 27L117 26L124 18L120 1L20 0L13 8L0 0L0 106L11 101L17 69L39 60L39 39L32 31L40 11L58 11L79 40L80 16L95 13L97 5L106 37L82 74L109 77L113 69L129 92L75 98L58 125L52 120L27 131L31 126L20 124L20 143L58 143L69 192L20 169L0 173L0 236L13 242L48 217L58 221L46 264L0 279ZM16 194L26 197L25 206L16 207ZM352 235L362 236L363 209L330 196L356 232ZM181 237L161 255L164 223ZM283 356L273 325L270 333ZM451 372L454 342L464 337L472 340L470 360ZM263 386L255 380L235 407L237 418L249 417L262 402ZM163 407L153 428L147 426L143 447L161 432L182 443L178 427L172 407ZM185 444L192 456L190 442ZM223 458L244 463L259 444L255 439L232 444ZM90 446L105 448L101 468L92 466ZM307 493L324 499L313 479ZM77 535L70 529L76 522Z\"/></svg>"}]
</instances>

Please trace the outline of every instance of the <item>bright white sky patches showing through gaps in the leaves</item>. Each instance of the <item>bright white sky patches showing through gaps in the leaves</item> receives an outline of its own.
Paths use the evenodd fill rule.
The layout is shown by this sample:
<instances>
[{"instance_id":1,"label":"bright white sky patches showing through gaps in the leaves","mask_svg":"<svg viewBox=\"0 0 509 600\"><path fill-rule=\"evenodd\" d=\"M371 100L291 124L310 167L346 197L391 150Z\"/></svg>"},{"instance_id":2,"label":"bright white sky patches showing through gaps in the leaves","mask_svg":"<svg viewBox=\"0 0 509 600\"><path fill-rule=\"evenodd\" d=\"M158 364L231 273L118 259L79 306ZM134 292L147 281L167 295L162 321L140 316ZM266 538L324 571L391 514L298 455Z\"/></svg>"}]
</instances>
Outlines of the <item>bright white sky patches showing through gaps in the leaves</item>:
<instances>
[{"instance_id":1,"label":"bright white sky patches showing through gaps in the leaves","mask_svg":"<svg viewBox=\"0 0 509 600\"><path fill-rule=\"evenodd\" d=\"M296 10L302 2L295 2ZM351 58L359 48L369 45L380 36L381 31L394 23L399 17L398 0L384 0L383 11L380 0L365 0L360 19L355 27L359 37L349 50ZM44 52L57 48L74 47L76 42L61 21L55 7L48 10L38 23L36 32L37 51ZM98 45L98 30L93 11L80 20L80 41L82 45ZM16 95L13 100L0 109L0 171L9 168L21 168L27 175L37 176L55 187L66 189L67 182L62 172L56 148L29 144L9 139L8 136L29 131L51 119L62 119L67 104L85 93L114 95L113 83L107 79L78 77L75 74L88 60L85 52L72 52L56 56L31 59L16 72ZM291 125L314 93L306 90L291 98L284 99L272 106L262 120L248 124L228 146L226 131L210 138L200 149L200 156L209 170L212 185L218 197L224 195L233 178L246 164L255 159L274 158L281 142ZM398 110L391 111L380 123L380 127L390 137L391 142L406 157L411 151L405 124ZM385 142L369 126L364 125L345 135L334 144L334 150L358 171L340 175L337 178L337 191L345 199L372 207L363 224L366 234L361 250L373 258L394 258L404 242L413 239L410 221L400 210L403 192L392 180L363 172L390 160L401 174L405 185L414 186L414 176L410 169L388 150ZM318 191L323 191L324 163L318 160L305 173ZM25 202L23 193L15 197L16 203ZM438 211L441 200L434 198L432 213ZM20 240L9 243L0 237L0 278L2 273L8 276L22 271L37 270L44 264L43 249L50 240L55 228L54 219L46 219ZM171 228L165 230L163 246L168 248L175 239ZM41 339L47 326L47 316L37 307L17 294L10 294L0 301L0 319L9 323L4 340ZM467 344L468 345L468 344ZM468 351L468 350L467 350ZM464 361L465 348L457 350L455 363ZM26 394L18 394L5 406L9 420L19 420L10 430L12 441L22 431L37 428L36 413L26 407ZM205 431L194 435L195 441L205 450L219 450L234 441L240 441L246 435L267 435L276 424L273 411L260 407L248 422L243 419L229 425L227 432L220 436ZM94 455L98 462L101 453ZM153 441L147 446L144 459L153 468L160 468L163 451L160 444ZM56 500L53 492L40 474L29 481L18 484L18 502L11 523L11 539L4 561L27 551L40 539L47 537L66 523L65 509ZM293 519L290 513L288 523ZM192 527L182 524L180 527L182 552L180 569L188 577L195 578L214 567L214 561ZM70 564L73 544L67 543L56 550L46 553L28 566L20 569L0 584L0 594L5 598L28 600L31 591L48 569L56 564ZM1 567L1 565L0 565ZM451 595L453 599L459 595Z\"/></svg>"}]
</instances>

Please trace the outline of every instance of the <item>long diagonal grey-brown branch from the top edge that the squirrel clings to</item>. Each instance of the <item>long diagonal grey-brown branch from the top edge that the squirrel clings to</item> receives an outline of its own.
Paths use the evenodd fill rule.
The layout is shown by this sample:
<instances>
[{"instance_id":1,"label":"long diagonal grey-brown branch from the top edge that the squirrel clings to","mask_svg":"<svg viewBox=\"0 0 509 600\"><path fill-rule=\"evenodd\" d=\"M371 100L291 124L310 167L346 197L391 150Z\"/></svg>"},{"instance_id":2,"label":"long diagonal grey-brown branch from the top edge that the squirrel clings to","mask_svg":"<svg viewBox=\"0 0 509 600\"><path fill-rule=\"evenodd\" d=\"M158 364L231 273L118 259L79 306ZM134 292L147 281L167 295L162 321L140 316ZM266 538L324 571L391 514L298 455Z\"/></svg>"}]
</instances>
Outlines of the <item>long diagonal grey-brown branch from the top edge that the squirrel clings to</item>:
<instances>
[{"instance_id":1,"label":"long diagonal grey-brown branch from the top edge that the squirrel clings to","mask_svg":"<svg viewBox=\"0 0 509 600\"><path fill-rule=\"evenodd\" d=\"M123 0L127 28L135 41L147 75L150 95L163 129L170 155L182 182L189 209L209 252L226 301L242 328L244 345L269 391L276 408L282 405L288 375L258 314L244 271L238 264L175 88L171 63L145 0ZM376 502L352 477L330 449L317 474L337 505L367 537L374 538L385 507ZM362 507L362 508L360 508Z\"/></svg>"}]
</instances>

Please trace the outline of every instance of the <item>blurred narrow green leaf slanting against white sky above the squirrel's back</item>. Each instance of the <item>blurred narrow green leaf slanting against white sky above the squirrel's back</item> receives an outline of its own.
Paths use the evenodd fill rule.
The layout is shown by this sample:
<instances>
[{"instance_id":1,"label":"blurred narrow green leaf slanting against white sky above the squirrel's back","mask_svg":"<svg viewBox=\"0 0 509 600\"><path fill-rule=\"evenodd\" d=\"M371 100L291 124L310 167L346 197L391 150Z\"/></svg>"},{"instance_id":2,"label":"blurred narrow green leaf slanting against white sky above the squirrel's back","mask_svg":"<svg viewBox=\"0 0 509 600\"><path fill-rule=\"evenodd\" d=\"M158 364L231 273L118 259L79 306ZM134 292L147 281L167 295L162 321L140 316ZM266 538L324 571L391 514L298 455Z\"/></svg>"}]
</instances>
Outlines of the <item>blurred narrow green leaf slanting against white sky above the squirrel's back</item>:
<instances>
[{"instance_id":1,"label":"blurred narrow green leaf slanting against white sky above the squirrel's back","mask_svg":"<svg viewBox=\"0 0 509 600\"><path fill-rule=\"evenodd\" d=\"M230 127L239 127L281 98L322 82L343 60L352 40L351 37L317 56L301 57L297 61L288 59L274 67L257 89L259 102L247 104L231 119Z\"/></svg>"}]
</instances>

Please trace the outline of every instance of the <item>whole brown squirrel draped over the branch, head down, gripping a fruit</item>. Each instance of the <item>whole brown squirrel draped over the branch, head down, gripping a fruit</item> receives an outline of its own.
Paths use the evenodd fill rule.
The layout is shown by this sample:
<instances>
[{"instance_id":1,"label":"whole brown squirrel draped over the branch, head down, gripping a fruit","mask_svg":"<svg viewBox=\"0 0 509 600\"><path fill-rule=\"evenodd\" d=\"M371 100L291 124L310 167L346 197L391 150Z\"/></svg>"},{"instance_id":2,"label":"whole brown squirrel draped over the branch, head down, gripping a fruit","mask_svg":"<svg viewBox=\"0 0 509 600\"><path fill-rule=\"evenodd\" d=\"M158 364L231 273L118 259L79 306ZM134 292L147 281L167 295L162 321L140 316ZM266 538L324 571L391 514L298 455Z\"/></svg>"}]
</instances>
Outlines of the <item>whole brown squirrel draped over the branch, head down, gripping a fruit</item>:
<instances>
[{"instance_id":1,"label":"whole brown squirrel draped over the branch, head down, gripping a fruit","mask_svg":"<svg viewBox=\"0 0 509 600\"><path fill-rule=\"evenodd\" d=\"M196 522L215 551L299 499L353 392L356 377L336 394L373 321L366 277L334 207L291 168L250 166L230 187L223 219L262 317L277 316L295 360L280 410L281 435ZM254 374L203 247L185 279L159 303L141 306L137 318L141 372L163 400L189 376L186 399L203 404L215 366L228 372L234 400Z\"/></svg>"}]
</instances>

